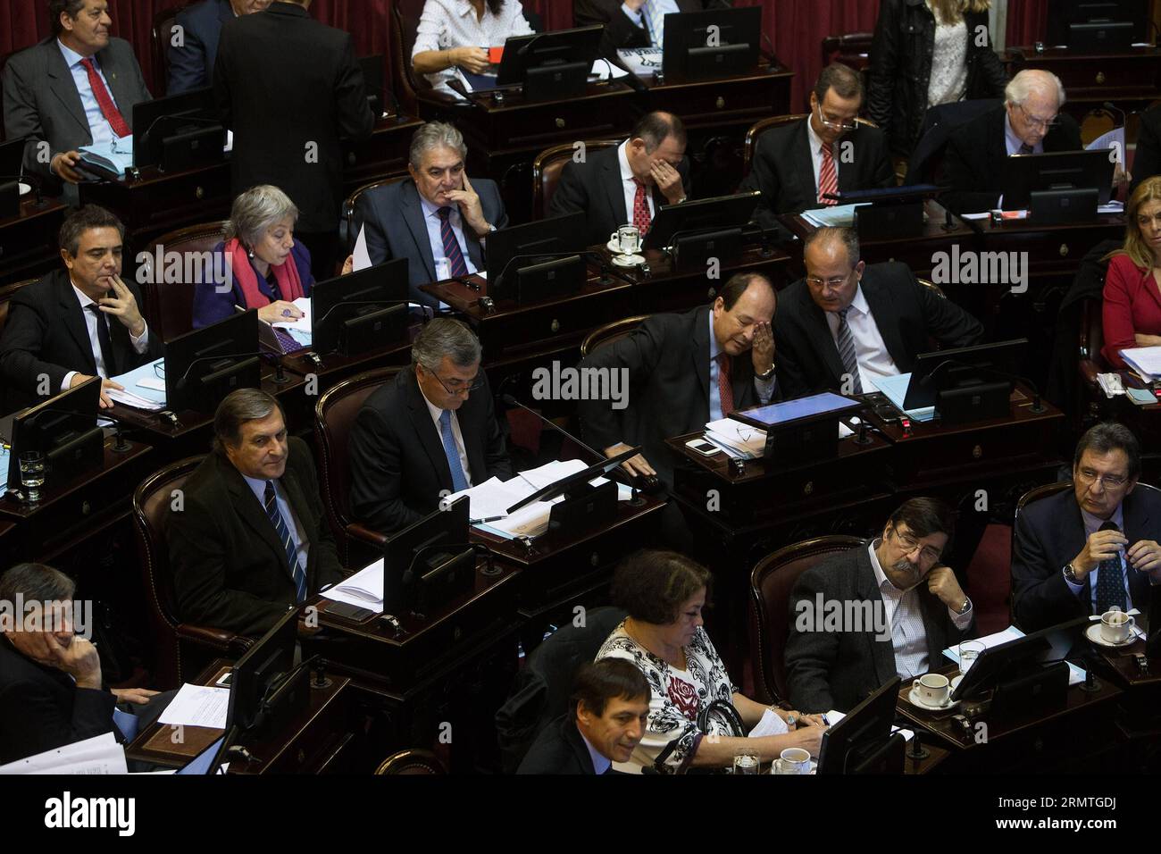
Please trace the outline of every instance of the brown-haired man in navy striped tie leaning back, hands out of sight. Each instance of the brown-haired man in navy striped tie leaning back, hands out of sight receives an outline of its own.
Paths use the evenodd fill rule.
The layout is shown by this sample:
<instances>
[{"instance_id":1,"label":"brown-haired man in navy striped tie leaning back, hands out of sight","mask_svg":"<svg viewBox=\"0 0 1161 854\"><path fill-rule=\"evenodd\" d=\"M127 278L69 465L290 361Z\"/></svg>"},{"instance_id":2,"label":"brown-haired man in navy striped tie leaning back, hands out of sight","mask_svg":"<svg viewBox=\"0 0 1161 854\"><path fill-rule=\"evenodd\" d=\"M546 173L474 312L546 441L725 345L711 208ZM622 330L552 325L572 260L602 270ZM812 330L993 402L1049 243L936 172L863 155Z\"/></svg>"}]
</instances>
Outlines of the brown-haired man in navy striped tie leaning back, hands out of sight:
<instances>
[{"instance_id":1,"label":"brown-haired man in navy striped tie leaning back, hands out of sight","mask_svg":"<svg viewBox=\"0 0 1161 854\"><path fill-rule=\"evenodd\" d=\"M165 525L183 620L261 637L288 608L342 579L307 443L255 388L225 396L214 450Z\"/></svg>"}]
</instances>

